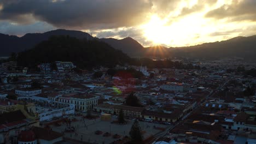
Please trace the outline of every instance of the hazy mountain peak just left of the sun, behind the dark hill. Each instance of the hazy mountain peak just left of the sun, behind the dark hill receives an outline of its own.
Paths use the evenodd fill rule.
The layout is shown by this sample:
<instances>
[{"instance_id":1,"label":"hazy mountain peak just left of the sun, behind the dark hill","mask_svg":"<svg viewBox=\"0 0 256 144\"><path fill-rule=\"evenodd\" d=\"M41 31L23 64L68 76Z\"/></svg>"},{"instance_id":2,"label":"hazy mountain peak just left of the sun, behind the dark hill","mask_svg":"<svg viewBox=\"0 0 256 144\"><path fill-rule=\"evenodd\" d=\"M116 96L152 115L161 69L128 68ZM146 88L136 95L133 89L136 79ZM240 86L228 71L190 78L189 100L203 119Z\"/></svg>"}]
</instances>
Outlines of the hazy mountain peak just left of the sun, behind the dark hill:
<instances>
[{"instance_id":1,"label":"hazy mountain peak just left of the sun, behind the dark hill","mask_svg":"<svg viewBox=\"0 0 256 144\"><path fill-rule=\"evenodd\" d=\"M108 39L100 39L104 41L105 43L111 45L115 49L121 50L124 53L126 53L129 56L142 56L144 47L138 43L138 41L127 37L124 39L113 39L113 38L108 38Z\"/></svg>"}]
</instances>

